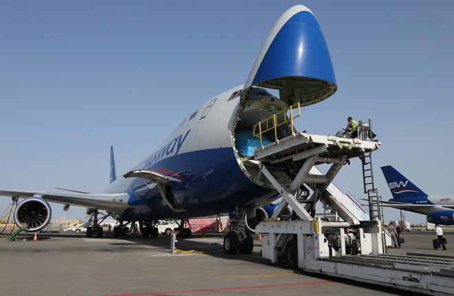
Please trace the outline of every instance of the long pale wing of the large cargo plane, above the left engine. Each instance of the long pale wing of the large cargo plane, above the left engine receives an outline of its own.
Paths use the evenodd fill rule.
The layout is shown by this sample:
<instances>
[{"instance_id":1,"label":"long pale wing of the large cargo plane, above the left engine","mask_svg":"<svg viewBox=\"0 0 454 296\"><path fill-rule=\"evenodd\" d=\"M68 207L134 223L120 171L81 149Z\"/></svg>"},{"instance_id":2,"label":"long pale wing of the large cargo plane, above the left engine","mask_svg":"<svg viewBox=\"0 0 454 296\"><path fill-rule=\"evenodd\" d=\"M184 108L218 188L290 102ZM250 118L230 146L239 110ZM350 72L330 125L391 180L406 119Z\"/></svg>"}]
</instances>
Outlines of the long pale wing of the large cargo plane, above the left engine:
<instances>
[{"instance_id":1,"label":"long pale wing of the large cargo plane, above the left engine","mask_svg":"<svg viewBox=\"0 0 454 296\"><path fill-rule=\"evenodd\" d=\"M51 191L3 190L1 196L29 198L40 195L48 202L72 204L74 206L102 209L107 211L124 211L128 207L128 193L62 193Z\"/></svg>"}]
</instances>

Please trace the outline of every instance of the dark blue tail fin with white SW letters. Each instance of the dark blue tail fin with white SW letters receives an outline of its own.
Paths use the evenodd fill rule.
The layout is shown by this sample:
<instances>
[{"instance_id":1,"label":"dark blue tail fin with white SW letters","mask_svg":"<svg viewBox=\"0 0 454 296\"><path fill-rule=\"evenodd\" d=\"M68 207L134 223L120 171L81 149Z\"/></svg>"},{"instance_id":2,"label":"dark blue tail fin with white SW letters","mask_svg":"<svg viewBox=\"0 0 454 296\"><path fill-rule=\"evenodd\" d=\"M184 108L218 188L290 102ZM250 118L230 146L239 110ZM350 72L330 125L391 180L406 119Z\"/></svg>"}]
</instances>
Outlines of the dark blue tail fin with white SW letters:
<instances>
[{"instance_id":1,"label":"dark blue tail fin with white SW letters","mask_svg":"<svg viewBox=\"0 0 454 296\"><path fill-rule=\"evenodd\" d=\"M388 183L389 190L393 198L415 198L421 196L428 196L424 191L419 189L410 180L405 178L396 169L387 165L381 167L386 182Z\"/></svg>"}]
</instances>

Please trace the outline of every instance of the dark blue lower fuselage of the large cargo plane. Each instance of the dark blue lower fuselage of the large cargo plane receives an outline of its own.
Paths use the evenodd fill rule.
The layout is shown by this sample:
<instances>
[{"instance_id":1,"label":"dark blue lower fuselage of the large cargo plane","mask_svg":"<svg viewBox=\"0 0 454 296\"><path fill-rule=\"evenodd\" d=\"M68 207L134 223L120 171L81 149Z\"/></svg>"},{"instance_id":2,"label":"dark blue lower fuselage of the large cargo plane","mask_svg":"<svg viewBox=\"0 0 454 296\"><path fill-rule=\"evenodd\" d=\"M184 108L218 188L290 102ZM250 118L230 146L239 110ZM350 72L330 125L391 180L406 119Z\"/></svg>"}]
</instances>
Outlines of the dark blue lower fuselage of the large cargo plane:
<instances>
[{"instance_id":1,"label":"dark blue lower fuselage of the large cargo plane","mask_svg":"<svg viewBox=\"0 0 454 296\"><path fill-rule=\"evenodd\" d=\"M129 187L130 209L125 219L191 218L228 213L237 205L257 207L274 200L277 192L249 180L237 164L233 149L192 151L147 168L170 177L171 190L183 211L170 209L156 184L138 178Z\"/></svg>"}]
</instances>

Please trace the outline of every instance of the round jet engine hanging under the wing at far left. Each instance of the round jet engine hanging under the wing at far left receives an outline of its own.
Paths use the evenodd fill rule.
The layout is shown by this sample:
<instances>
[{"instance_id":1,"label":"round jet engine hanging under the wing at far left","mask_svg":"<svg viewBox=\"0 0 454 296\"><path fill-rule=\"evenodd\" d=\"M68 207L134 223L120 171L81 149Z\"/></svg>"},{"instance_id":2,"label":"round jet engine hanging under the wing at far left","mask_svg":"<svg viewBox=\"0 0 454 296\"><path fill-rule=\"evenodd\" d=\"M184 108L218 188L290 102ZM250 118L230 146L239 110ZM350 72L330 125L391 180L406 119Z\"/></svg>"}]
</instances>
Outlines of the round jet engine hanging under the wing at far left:
<instances>
[{"instance_id":1,"label":"round jet engine hanging under the wing at far left","mask_svg":"<svg viewBox=\"0 0 454 296\"><path fill-rule=\"evenodd\" d=\"M40 231L50 222L52 210L50 205L39 196L25 198L14 211L14 222L28 231Z\"/></svg>"}]
</instances>

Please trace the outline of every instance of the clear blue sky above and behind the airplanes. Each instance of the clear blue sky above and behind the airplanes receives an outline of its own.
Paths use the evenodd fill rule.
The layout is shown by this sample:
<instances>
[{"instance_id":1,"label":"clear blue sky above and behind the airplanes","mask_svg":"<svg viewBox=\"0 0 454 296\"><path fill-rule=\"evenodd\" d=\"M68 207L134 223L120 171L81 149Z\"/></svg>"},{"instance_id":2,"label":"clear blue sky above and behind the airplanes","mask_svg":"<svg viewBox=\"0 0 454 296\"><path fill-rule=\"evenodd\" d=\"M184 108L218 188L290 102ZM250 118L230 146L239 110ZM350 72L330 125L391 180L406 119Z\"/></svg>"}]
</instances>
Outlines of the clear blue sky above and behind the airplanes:
<instances>
[{"instance_id":1,"label":"clear blue sky above and behind the airplanes","mask_svg":"<svg viewBox=\"0 0 454 296\"><path fill-rule=\"evenodd\" d=\"M101 191L109 145L118 173L142 160L244 83L274 22L299 3L321 24L338 82L299 127L333 134L349 115L372 118L385 200L381 165L454 193L454 1L1 1L0 188ZM335 183L363 198L360 161ZM61 208L54 218L85 213Z\"/></svg>"}]
</instances>

